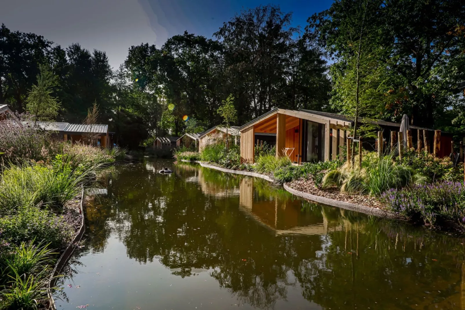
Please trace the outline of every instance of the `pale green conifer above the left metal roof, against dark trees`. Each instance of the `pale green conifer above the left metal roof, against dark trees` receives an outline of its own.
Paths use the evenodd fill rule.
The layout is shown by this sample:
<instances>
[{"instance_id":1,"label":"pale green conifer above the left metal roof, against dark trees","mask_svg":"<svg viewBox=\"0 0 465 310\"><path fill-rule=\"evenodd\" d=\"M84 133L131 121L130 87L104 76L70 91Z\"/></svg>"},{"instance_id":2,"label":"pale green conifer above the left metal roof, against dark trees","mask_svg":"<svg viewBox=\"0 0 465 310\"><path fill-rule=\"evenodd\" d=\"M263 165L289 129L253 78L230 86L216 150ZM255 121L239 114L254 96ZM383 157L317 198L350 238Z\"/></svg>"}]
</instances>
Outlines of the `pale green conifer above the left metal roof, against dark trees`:
<instances>
[{"instance_id":1,"label":"pale green conifer above the left metal roof, against dark trees","mask_svg":"<svg viewBox=\"0 0 465 310\"><path fill-rule=\"evenodd\" d=\"M33 115L34 121L52 121L58 115L61 103L53 97L53 87L57 85L56 76L47 65L40 65L37 85L33 85L27 93L27 112Z\"/></svg>"}]
</instances>

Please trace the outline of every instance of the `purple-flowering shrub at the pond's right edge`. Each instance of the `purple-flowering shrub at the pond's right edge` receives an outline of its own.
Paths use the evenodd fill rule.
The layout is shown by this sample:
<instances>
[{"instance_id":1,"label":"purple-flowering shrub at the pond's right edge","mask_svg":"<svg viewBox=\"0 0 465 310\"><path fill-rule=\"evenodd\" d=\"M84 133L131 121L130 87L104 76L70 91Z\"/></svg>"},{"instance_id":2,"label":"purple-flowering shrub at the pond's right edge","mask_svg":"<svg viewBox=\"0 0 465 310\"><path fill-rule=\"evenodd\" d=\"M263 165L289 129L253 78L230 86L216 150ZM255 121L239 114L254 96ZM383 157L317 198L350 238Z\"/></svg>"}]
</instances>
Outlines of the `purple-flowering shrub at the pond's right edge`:
<instances>
[{"instance_id":1,"label":"purple-flowering shrub at the pond's right edge","mask_svg":"<svg viewBox=\"0 0 465 310\"><path fill-rule=\"evenodd\" d=\"M465 224L465 184L437 182L405 189L389 189L382 200L395 213L425 224L455 221Z\"/></svg>"}]
</instances>

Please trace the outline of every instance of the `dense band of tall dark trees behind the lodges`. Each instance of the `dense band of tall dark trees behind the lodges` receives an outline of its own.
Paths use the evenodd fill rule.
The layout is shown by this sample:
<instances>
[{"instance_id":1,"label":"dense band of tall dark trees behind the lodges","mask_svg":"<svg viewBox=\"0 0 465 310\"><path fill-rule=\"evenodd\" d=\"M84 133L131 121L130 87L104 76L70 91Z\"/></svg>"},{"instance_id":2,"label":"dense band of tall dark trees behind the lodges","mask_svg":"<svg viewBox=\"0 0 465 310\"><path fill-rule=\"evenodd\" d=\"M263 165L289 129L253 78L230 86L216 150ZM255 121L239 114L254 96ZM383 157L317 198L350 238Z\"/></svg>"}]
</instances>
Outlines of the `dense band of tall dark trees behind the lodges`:
<instances>
[{"instance_id":1,"label":"dense band of tall dark trees behind the lodges","mask_svg":"<svg viewBox=\"0 0 465 310\"><path fill-rule=\"evenodd\" d=\"M62 48L38 34L0 28L0 104L24 111L41 65L57 83L59 121L81 122L93 103L121 145L210 128L232 94L241 125L272 108L306 108L465 128L465 3L335 0L305 31L267 5L226 21L213 39L185 32L161 47L129 47L113 70L105 52ZM327 63L329 61L329 65ZM363 128L362 128L363 129Z\"/></svg>"}]
</instances>

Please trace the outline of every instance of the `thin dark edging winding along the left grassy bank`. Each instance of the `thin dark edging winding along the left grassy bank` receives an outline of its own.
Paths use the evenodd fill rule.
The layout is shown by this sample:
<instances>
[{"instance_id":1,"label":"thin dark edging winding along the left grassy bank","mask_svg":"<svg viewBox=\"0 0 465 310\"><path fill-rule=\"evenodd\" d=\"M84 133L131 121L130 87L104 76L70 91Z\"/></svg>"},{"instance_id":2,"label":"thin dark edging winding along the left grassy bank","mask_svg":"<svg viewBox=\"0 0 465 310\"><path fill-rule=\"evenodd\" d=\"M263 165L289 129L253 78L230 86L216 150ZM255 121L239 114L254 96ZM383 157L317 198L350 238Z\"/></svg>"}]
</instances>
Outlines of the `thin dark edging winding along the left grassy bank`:
<instances>
[{"instance_id":1,"label":"thin dark edging winding along the left grassy bank","mask_svg":"<svg viewBox=\"0 0 465 310\"><path fill-rule=\"evenodd\" d=\"M74 236L73 241L71 243L69 243L68 247L65 249L63 254L61 254L60 258L56 262L55 267L53 268L52 275L50 276L50 280L48 281L47 295L48 295L48 299L50 301L49 309L51 309L51 310L56 310L57 309L56 305L55 305L55 300L53 299L53 296L52 296L52 287L54 286L54 284L55 284L55 282L57 280L56 276L59 275L61 269L66 264L66 262L71 257L71 255L73 254L73 251L76 248L75 243L79 242L81 240L82 236L84 235L85 226L84 226L84 209L83 209L83 205L84 205L84 187L82 187L81 204L80 204L80 210L79 210L80 214L81 214L81 226L80 226L76 236Z\"/></svg>"}]
</instances>

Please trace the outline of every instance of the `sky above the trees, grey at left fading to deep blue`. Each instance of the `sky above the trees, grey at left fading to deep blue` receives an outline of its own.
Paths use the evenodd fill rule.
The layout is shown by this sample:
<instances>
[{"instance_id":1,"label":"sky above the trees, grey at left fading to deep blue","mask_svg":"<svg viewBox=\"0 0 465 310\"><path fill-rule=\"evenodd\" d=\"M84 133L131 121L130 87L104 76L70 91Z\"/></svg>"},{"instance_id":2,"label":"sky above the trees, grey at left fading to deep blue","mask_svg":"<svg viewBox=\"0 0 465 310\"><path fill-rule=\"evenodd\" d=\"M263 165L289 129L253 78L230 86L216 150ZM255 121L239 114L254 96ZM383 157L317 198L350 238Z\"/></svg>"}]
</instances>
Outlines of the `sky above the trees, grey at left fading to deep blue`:
<instances>
[{"instance_id":1,"label":"sky above the trees, grey at left fading to deep blue","mask_svg":"<svg viewBox=\"0 0 465 310\"><path fill-rule=\"evenodd\" d=\"M117 68L131 45L149 42L161 47L184 30L211 38L241 9L269 3L293 12L293 26L303 30L307 18L329 8L332 1L14 0L2 4L0 23L11 30L41 34L62 47L79 42L91 51L106 51Z\"/></svg>"}]
</instances>

